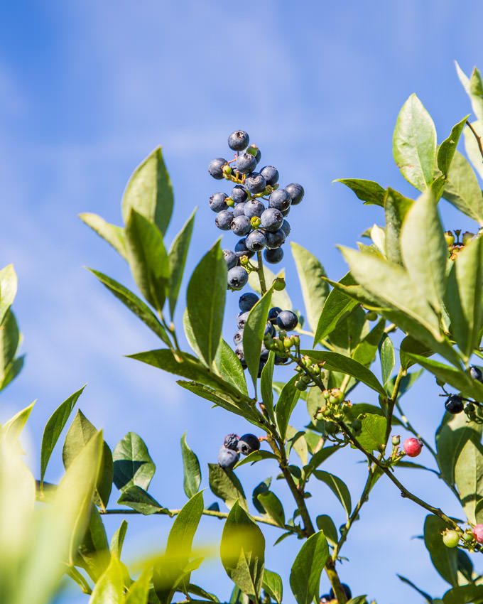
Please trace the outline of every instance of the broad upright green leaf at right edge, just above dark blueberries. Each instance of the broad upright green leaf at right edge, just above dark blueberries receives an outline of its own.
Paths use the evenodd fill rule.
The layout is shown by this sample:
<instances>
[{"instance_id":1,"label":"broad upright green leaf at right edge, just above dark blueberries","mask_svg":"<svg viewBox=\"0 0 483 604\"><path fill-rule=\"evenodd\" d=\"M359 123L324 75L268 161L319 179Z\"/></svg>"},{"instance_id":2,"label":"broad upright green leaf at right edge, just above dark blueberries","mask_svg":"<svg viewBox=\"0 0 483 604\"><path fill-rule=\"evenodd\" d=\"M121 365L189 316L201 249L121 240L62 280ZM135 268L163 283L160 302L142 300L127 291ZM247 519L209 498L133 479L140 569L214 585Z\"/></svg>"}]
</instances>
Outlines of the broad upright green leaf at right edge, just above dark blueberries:
<instances>
[{"instance_id":1,"label":"broad upright green leaf at right edge, just above dark blueberries","mask_svg":"<svg viewBox=\"0 0 483 604\"><path fill-rule=\"evenodd\" d=\"M482 239L472 240L457 254L452 265L446 293L446 308L451 332L465 360L479 345L483 323L483 245Z\"/></svg>"}]
</instances>

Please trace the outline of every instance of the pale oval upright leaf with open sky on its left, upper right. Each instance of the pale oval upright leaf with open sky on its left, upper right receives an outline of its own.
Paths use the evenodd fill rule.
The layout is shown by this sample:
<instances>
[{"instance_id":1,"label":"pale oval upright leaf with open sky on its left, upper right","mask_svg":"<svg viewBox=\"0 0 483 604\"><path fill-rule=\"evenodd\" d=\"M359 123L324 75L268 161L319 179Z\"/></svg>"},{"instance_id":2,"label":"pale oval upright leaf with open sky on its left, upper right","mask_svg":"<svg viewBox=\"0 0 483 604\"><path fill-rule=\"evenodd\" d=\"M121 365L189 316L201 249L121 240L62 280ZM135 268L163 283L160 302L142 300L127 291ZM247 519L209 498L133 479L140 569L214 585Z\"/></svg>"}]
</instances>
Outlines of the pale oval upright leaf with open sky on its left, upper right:
<instances>
[{"instance_id":1,"label":"pale oval upright leaf with open sky on its left, upper right","mask_svg":"<svg viewBox=\"0 0 483 604\"><path fill-rule=\"evenodd\" d=\"M430 114L411 95L398 115L393 137L394 161L411 185L424 190L433 180L436 129Z\"/></svg>"}]
</instances>

